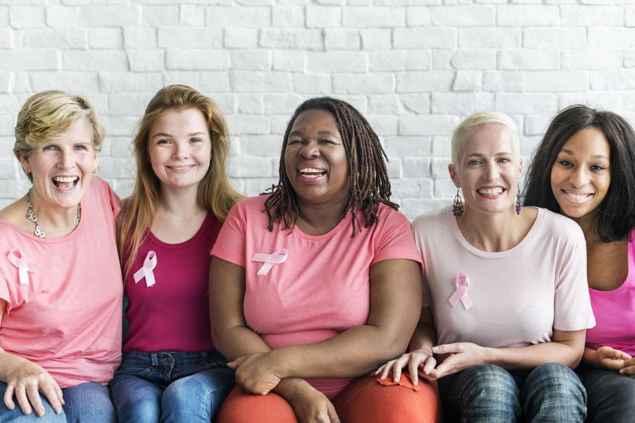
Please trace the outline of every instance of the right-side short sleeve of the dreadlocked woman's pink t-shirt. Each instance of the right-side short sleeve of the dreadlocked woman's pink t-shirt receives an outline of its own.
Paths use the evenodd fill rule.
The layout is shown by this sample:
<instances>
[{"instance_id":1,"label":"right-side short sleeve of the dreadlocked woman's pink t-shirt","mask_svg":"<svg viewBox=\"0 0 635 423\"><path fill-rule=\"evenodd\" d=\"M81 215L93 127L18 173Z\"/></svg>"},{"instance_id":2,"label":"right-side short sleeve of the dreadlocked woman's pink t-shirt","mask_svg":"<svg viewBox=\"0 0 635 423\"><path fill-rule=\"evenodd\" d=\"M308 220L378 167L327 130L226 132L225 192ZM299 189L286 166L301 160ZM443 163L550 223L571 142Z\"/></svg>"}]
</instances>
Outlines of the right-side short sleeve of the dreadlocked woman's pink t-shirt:
<instances>
[{"instance_id":1,"label":"right-side short sleeve of the dreadlocked woman's pink t-shirt","mask_svg":"<svg viewBox=\"0 0 635 423\"><path fill-rule=\"evenodd\" d=\"M422 262L421 256L417 252L408 218L399 211L390 210L387 206L384 207L388 213L385 213L385 216L380 216L380 218L384 217L386 221L377 228L382 233L370 265L391 258L406 258L420 264Z\"/></svg>"}]
</instances>

